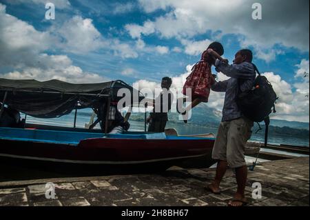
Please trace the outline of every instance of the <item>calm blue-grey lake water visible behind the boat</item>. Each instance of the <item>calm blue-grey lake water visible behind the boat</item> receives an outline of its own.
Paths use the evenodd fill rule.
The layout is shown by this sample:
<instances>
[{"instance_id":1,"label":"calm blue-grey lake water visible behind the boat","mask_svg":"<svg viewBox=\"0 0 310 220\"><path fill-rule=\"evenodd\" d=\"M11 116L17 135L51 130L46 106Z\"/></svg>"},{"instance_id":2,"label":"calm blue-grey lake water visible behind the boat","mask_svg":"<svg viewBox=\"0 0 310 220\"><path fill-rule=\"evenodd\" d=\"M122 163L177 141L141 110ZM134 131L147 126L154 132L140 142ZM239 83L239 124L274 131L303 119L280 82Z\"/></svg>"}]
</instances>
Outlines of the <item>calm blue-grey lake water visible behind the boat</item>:
<instances>
[{"instance_id":1,"label":"calm blue-grey lake water visible behind the boat","mask_svg":"<svg viewBox=\"0 0 310 220\"><path fill-rule=\"evenodd\" d=\"M76 119L76 127L84 128L85 123L89 123L90 116L78 113ZM68 114L57 119L37 119L32 117L27 117L27 123L41 123L51 126L66 126L73 127L74 124L74 114ZM99 126L96 126L99 128ZM175 128L178 131L178 134L205 134L205 133L217 133L217 128L207 128L203 126L194 126L187 124L176 124L176 123L167 123L166 128ZM130 131L144 131L144 121L132 121L130 120ZM251 141L264 142L265 131L260 130L258 134L252 134ZM290 144L294 146L308 146L309 147L309 138L300 139L293 137L286 137L285 135L269 135L268 143L271 144Z\"/></svg>"}]
</instances>

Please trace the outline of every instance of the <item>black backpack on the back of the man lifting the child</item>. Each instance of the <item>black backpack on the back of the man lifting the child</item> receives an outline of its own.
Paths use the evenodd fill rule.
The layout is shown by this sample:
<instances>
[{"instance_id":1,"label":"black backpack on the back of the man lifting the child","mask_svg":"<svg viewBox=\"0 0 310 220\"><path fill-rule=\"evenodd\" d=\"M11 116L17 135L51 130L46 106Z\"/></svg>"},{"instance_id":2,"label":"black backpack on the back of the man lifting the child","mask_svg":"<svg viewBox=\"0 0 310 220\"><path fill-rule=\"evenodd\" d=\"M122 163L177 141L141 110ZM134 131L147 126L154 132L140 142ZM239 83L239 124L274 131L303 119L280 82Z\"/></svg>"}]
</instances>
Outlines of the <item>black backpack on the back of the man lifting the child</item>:
<instances>
[{"instance_id":1,"label":"black backpack on the back of the man lifting the child","mask_svg":"<svg viewBox=\"0 0 310 220\"><path fill-rule=\"evenodd\" d=\"M260 75L260 72L255 65L254 68L258 73L258 77L256 77L254 81L253 88L241 92L239 80L239 92L236 98L236 103L245 117L254 122L261 122L269 117L271 112L276 112L275 103L278 97L268 79Z\"/></svg>"}]
</instances>

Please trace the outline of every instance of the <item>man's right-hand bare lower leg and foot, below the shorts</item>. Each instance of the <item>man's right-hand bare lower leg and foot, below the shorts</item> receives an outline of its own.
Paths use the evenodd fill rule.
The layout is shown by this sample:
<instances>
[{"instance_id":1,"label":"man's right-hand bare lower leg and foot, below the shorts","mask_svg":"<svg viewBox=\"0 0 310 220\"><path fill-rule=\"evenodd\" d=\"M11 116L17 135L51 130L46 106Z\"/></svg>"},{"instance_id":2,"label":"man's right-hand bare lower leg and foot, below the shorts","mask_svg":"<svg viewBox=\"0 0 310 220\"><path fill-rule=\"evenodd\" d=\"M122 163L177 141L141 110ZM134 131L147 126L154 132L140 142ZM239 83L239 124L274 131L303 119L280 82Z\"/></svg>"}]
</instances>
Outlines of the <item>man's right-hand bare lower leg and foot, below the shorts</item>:
<instances>
[{"instance_id":1,"label":"man's right-hand bare lower leg and foot, below the shorts","mask_svg":"<svg viewBox=\"0 0 310 220\"><path fill-rule=\"evenodd\" d=\"M238 189L234 195L234 201L230 201L229 206L242 206L246 203L245 186L247 184L247 166L236 168L236 181Z\"/></svg>"}]
</instances>

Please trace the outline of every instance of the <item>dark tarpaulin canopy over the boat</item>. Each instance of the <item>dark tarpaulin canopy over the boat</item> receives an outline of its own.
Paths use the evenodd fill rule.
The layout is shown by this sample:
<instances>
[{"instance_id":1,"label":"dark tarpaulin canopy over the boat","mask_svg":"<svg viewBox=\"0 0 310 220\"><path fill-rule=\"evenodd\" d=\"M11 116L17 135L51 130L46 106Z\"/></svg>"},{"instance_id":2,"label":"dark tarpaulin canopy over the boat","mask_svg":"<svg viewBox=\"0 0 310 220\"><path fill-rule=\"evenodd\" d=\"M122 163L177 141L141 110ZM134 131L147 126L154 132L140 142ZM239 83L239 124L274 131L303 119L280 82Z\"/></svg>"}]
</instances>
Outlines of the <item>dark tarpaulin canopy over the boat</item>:
<instances>
[{"instance_id":1,"label":"dark tarpaulin canopy over the boat","mask_svg":"<svg viewBox=\"0 0 310 220\"><path fill-rule=\"evenodd\" d=\"M107 101L117 102L123 98L117 96L121 88L131 92L131 103L127 103L127 106L144 99L141 92L120 80L74 84L56 79L0 79L0 102L32 117L54 118L69 114L75 108L94 109ZM137 100L133 99L134 93L137 94Z\"/></svg>"}]
</instances>

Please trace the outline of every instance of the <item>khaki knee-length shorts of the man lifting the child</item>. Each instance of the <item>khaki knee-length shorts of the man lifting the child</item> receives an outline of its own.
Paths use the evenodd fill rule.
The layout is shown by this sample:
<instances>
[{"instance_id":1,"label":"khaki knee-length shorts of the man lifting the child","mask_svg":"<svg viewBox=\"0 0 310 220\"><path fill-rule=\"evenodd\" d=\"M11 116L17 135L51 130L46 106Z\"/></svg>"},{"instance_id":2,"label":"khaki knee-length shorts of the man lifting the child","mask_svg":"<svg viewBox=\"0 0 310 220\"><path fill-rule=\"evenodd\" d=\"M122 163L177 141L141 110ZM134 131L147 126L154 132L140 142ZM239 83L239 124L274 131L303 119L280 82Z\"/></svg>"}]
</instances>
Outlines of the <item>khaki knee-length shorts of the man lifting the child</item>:
<instances>
[{"instance_id":1,"label":"khaki knee-length shorts of the man lifting the child","mask_svg":"<svg viewBox=\"0 0 310 220\"><path fill-rule=\"evenodd\" d=\"M246 166L245 144L251 137L254 122L240 117L231 121L222 121L214 143L212 159L227 161L229 167Z\"/></svg>"}]
</instances>

